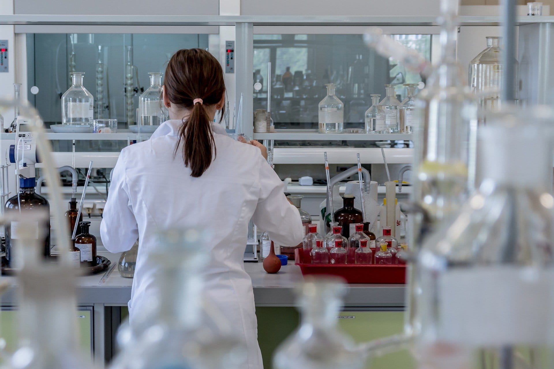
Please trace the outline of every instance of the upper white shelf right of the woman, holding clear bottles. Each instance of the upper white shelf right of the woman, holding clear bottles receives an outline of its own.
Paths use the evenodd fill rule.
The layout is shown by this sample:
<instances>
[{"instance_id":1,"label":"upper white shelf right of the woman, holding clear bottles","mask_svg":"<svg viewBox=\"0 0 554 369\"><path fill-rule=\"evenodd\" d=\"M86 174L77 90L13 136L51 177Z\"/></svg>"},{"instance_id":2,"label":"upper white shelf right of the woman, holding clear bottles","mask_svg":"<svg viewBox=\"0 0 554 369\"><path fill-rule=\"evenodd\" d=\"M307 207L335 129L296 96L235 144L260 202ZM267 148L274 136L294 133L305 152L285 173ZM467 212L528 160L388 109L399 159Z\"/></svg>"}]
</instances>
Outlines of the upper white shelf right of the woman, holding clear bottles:
<instances>
[{"instance_id":1,"label":"upper white shelf right of the woman, holding clear bottles","mask_svg":"<svg viewBox=\"0 0 554 369\"><path fill-rule=\"evenodd\" d=\"M254 133L254 139L278 141L388 141L411 140L411 133L319 133L316 129L276 129L274 133Z\"/></svg>"}]
</instances>

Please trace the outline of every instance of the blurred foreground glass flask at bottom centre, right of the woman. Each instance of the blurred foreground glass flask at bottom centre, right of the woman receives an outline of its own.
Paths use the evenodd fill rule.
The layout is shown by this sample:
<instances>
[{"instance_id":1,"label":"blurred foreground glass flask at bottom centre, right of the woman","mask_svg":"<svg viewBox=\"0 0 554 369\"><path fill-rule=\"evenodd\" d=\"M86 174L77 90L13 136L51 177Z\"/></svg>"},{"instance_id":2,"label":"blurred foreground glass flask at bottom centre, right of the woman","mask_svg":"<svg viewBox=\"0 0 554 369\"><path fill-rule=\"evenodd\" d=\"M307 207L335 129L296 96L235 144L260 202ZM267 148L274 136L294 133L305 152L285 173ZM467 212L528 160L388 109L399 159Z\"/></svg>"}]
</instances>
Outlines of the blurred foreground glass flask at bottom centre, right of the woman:
<instances>
[{"instance_id":1,"label":"blurred foreground glass flask at bottom centre, right of the woman","mask_svg":"<svg viewBox=\"0 0 554 369\"><path fill-rule=\"evenodd\" d=\"M302 318L299 328L276 350L275 369L357 369L365 357L338 329L337 315L345 288L336 277L306 277L297 289Z\"/></svg>"}]
</instances>

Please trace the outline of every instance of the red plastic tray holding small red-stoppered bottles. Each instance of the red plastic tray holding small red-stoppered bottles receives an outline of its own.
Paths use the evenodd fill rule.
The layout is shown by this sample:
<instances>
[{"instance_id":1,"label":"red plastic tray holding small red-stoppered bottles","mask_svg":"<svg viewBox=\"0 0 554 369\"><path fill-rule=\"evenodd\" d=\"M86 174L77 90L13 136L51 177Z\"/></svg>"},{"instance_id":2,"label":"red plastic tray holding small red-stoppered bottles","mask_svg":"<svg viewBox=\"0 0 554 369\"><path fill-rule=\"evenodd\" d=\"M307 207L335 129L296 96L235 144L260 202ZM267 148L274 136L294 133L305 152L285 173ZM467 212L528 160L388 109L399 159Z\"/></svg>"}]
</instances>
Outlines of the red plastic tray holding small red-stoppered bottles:
<instances>
[{"instance_id":1,"label":"red plastic tray holding small red-stoppered bottles","mask_svg":"<svg viewBox=\"0 0 554 369\"><path fill-rule=\"evenodd\" d=\"M326 274L342 277L347 283L406 283L405 265L308 264L303 262L301 251L301 248L294 251L294 264L300 267L303 276Z\"/></svg>"}]
</instances>

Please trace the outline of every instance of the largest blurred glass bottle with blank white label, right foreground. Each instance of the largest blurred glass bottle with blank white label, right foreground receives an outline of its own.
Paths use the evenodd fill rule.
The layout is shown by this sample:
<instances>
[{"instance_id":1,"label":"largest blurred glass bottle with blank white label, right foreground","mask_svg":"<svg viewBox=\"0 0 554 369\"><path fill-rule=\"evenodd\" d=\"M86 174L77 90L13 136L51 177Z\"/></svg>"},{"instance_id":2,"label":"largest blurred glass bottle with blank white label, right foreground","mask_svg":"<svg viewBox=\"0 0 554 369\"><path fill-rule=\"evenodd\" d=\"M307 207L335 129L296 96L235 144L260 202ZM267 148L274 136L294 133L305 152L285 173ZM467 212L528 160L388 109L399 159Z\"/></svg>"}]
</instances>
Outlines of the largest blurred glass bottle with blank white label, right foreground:
<instances>
[{"instance_id":1,"label":"largest blurred glass bottle with blank white label, right foreground","mask_svg":"<svg viewBox=\"0 0 554 369\"><path fill-rule=\"evenodd\" d=\"M442 346L518 362L504 367L551 367L540 352L554 333L552 144L536 119L524 123L532 116L511 110L480 127L486 178L418 255L416 352Z\"/></svg>"}]
</instances>

